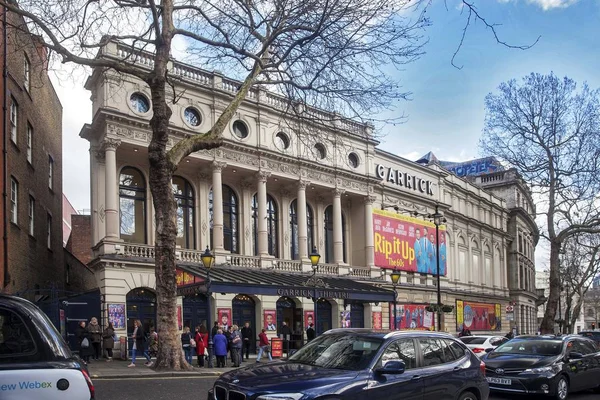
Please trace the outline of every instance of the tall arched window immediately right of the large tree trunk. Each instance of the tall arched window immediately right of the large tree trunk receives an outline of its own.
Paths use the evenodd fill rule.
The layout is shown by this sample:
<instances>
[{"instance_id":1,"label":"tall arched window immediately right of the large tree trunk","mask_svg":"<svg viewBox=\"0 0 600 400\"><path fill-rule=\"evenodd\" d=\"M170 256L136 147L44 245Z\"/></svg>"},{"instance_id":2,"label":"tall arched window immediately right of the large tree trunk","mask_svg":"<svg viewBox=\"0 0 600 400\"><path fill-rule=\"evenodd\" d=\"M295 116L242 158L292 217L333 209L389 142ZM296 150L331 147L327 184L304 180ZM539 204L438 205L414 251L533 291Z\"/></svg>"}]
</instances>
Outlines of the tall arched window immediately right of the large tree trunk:
<instances>
[{"instance_id":1,"label":"tall arched window immediately right of the large tree trunk","mask_svg":"<svg viewBox=\"0 0 600 400\"><path fill-rule=\"evenodd\" d=\"M195 197L192 185L180 176L173 177L173 194L177 202L176 244L184 249L196 247Z\"/></svg>"}]
</instances>

